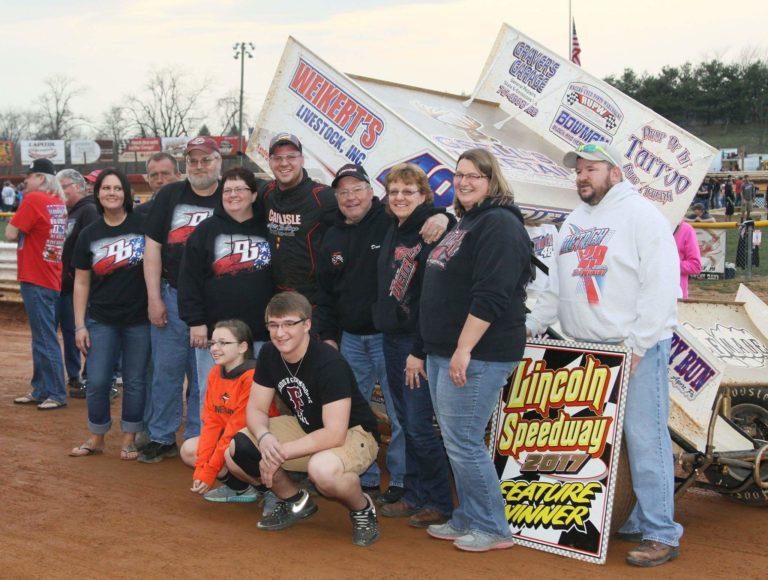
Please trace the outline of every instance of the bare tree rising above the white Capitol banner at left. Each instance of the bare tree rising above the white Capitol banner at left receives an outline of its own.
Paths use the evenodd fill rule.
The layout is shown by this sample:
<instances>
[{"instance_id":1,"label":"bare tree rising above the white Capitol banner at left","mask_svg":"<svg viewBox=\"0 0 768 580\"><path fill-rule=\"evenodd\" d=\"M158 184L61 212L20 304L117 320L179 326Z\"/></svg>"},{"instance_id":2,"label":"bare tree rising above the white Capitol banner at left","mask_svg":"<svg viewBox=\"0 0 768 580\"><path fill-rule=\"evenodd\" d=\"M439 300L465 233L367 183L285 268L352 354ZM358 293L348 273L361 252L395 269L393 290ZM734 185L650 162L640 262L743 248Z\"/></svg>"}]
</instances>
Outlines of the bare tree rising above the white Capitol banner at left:
<instances>
[{"instance_id":1,"label":"bare tree rising above the white Capitol banner at left","mask_svg":"<svg viewBox=\"0 0 768 580\"><path fill-rule=\"evenodd\" d=\"M72 101L84 92L74 79L57 75L45 80L46 91L37 99L40 114L41 139L65 139L74 136L77 128L86 122L75 114Z\"/></svg>"}]
</instances>

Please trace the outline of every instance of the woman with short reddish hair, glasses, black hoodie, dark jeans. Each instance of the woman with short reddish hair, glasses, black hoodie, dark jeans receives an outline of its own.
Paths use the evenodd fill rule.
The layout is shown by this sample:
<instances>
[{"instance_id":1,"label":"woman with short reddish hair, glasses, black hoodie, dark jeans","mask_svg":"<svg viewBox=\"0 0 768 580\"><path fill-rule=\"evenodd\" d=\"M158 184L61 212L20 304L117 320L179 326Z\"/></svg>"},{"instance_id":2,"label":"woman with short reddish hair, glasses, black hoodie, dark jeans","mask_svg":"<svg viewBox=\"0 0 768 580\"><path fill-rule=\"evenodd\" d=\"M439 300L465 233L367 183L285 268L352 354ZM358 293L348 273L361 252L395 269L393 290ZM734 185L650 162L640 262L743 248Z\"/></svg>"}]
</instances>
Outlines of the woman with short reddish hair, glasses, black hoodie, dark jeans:
<instances>
[{"instance_id":1,"label":"woman with short reddish hair, glasses, black hoodie, dark jeans","mask_svg":"<svg viewBox=\"0 0 768 580\"><path fill-rule=\"evenodd\" d=\"M397 419L405 434L405 492L382 506L385 517L409 517L426 528L445 523L453 511L448 458L434 428L434 410L418 340L419 298L424 264L434 244L420 235L429 217L440 212L432 203L427 175L418 166L396 165L387 174L387 213L394 219L381 244L376 328L384 333L384 362ZM451 226L456 220L451 216Z\"/></svg>"}]
</instances>

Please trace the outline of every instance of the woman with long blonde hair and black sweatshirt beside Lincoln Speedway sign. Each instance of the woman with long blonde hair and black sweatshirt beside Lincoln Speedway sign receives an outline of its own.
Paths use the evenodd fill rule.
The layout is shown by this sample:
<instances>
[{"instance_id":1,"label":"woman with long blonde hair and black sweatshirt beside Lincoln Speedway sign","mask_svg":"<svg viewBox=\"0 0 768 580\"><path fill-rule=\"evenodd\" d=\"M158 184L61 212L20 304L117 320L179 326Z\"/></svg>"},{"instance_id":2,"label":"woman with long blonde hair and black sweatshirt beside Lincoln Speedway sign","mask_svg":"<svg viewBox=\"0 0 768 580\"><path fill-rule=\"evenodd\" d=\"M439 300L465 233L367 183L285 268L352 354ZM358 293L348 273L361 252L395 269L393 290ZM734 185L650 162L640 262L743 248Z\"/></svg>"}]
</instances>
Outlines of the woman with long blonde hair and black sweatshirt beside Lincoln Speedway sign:
<instances>
[{"instance_id":1,"label":"woman with long blonde hair and black sweatshirt beside Lincoln Speedway sign","mask_svg":"<svg viewBox=\"0 0 768 580\"><path fill-rule=\"evenodd\" d=\"M484 437L525 348L531 243L496 158L465 151L454 176L458 225L429 255L419 316L427 376L458 507L427 532L474 552L512 546Z\"/></svg>"}]
</instances>

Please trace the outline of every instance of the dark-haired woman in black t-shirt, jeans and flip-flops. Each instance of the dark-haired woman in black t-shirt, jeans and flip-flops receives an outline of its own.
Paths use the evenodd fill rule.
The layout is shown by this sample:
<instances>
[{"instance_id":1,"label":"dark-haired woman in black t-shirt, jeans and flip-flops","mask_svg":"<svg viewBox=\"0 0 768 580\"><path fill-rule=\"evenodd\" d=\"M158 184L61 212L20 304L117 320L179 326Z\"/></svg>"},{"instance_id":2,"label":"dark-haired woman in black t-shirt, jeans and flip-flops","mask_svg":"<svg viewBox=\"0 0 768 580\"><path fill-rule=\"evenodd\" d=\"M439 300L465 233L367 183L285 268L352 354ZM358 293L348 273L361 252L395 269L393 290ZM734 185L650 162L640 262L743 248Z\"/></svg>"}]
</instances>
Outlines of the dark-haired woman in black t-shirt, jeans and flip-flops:
<instances>
[{"instance_id":1,"label":"dark-haired woman in black t-shirt, jeans and flip-flops","mask_svg":"<svg viewBox=\"0 0 768 580\"><path fill-rule=\"evenodd\" d=\"M94 197L102 219L81 232L73 257L75 341L88 357L86 399L91 435L69 454L84 457L104 450L104 436L112 426L112 371L122 355L120 458L135 460L138 452L134 440L144 426L150 348L144 235L141 218L132 213L131 186L125 174L117 169L102 171L94 186Z\"/></svg>"}]
</instances>

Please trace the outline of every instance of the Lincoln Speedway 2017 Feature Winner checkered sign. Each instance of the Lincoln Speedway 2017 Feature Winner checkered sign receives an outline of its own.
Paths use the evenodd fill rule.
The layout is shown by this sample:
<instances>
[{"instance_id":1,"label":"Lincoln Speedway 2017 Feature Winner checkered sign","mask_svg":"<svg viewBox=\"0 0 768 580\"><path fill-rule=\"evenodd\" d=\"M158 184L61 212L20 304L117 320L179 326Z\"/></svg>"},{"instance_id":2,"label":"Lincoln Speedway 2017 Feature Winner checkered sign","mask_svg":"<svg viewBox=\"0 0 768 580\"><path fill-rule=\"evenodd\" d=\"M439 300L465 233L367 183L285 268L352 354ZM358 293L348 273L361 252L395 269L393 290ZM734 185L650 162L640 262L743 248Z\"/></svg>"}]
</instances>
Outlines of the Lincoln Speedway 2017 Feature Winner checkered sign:
<instances>
[{"instance_id":1,"label":"Lincoln Speedway 2017 Feature Winner checkered sign","mask_svg":"<svg viewBox=\"0 0 768 580\"><path fill-rule=\"evenodd\" d=\"M618 346L528 342L492 450L519 544L605 562L630 358Z\"/></svg>"}]
</instances>

